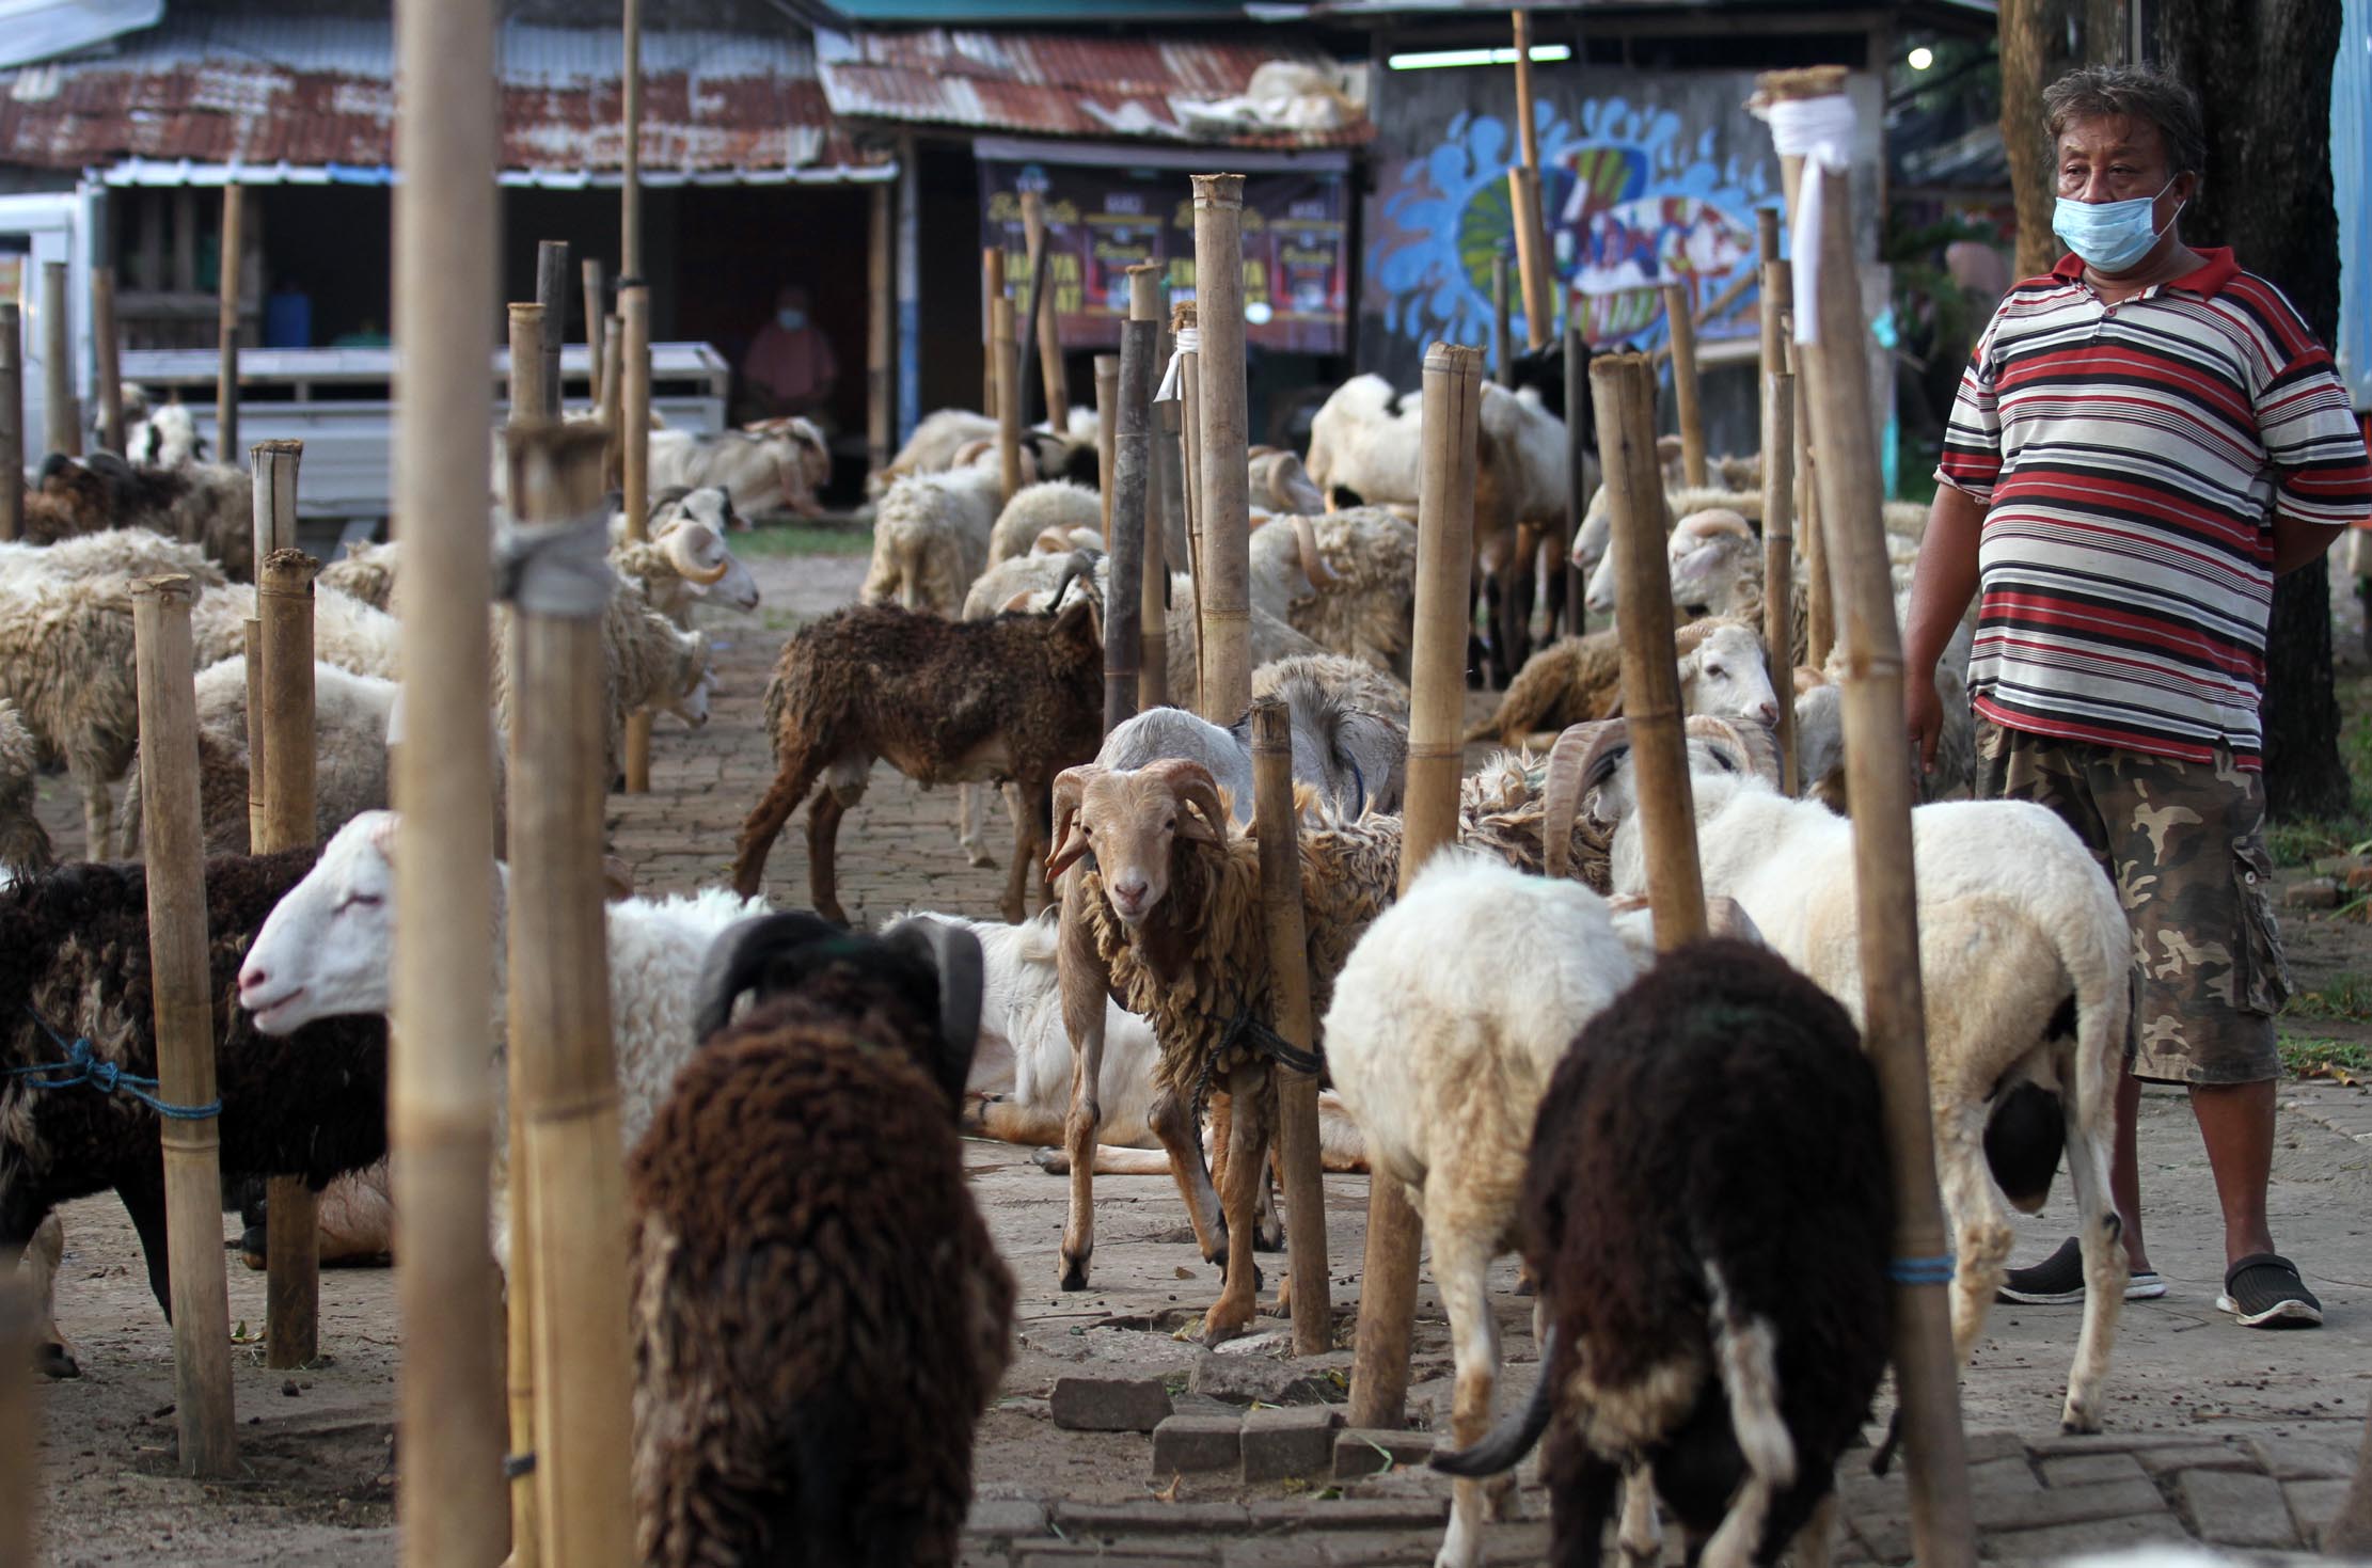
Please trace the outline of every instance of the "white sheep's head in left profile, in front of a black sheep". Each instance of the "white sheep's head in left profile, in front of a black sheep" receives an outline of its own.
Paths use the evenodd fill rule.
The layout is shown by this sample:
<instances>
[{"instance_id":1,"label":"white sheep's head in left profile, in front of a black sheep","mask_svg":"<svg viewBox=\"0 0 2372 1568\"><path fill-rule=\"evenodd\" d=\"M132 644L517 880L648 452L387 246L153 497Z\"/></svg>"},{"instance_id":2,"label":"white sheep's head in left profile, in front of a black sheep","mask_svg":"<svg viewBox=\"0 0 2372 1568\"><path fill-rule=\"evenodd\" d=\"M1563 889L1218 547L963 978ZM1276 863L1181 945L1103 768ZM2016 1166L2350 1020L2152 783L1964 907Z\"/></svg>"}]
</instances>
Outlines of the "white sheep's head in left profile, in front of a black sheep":
<instances>
[{"instance_id":1,"label":"white sheep's head in left profile, in front of a black sheep","mask_svg":"<svg viewBox=\"0 0 2372 1568\"><path fill-rule=\"evenodd\" d=\"M240 965L240 1006L256 1030L289 1034L315 1018L387 1011L394 833L391 811L356 816L263 920Z\"/></svg>"}]
</instances>

